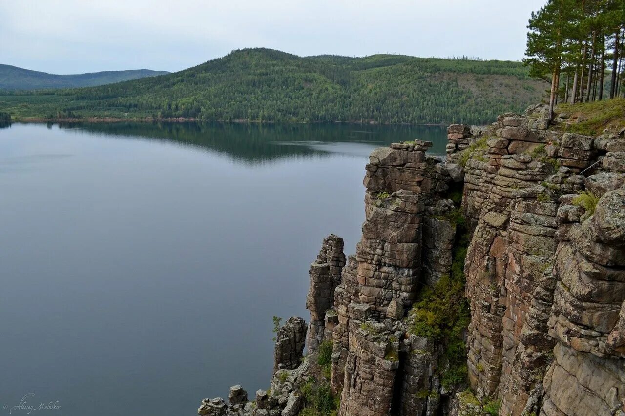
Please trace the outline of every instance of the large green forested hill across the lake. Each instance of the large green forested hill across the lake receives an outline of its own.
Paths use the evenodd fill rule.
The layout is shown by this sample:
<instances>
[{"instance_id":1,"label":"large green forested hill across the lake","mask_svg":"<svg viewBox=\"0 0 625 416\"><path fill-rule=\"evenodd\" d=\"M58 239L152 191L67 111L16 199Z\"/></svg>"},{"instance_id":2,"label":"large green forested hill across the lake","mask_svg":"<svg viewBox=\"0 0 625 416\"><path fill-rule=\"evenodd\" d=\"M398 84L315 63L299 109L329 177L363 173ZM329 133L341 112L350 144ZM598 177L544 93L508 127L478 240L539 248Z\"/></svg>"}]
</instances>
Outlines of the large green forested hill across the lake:
<instances>
[{"instance_id":1,"label":"large green forested hill across the lake","mask_svg":"<svg viewBox=\"0 0 625 416\"><path fill-rule=\"evenodd\" d=\"M483 124L541 101L521 62L299 57L242 49L180 72L99 87L0 92L21 117L193 117L275 122Z\"/></svg>"}]
</instances>

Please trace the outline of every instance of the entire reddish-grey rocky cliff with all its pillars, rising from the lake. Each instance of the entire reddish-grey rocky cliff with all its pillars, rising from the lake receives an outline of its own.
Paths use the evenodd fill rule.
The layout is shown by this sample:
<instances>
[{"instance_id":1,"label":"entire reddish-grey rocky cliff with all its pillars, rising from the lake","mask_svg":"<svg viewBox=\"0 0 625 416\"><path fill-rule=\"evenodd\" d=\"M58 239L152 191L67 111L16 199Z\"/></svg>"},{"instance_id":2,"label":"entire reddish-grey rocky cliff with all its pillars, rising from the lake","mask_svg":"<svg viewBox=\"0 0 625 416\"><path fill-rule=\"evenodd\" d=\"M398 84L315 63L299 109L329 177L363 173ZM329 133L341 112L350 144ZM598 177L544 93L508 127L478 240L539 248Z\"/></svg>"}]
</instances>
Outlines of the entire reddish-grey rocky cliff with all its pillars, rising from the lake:
<instances>
[{"instance_id":1,"label":"entire reddish-grey rocky cliff with all its pillars, rising from the lake","mask_svg":"<svg viewBox=\"0 0 625 416\"><path fill-rule=\"evenodd\" d=\"M199 414L625 415L625 137L545 117L372 152L356 254L322 243L271 391Z\"/></svg>"}]
</instances>

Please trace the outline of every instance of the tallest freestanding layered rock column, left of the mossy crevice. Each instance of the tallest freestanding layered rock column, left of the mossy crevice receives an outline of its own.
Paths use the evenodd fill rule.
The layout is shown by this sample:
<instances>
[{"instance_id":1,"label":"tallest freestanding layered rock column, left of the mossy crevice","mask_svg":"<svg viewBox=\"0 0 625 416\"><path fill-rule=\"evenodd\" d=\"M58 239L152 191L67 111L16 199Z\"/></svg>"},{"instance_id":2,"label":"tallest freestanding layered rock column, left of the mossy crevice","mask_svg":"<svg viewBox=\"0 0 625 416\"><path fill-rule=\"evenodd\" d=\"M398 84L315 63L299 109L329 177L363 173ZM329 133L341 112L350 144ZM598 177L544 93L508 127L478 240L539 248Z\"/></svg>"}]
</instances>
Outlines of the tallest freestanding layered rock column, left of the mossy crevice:
<instances>
[{"instance_id":1,"label":"tallest freestanding layered rock column, left of the mossy crevice","mask_svg":"<svg viewBox=\"0 0 625 416\"><path fill-rule=\"evenodd\" d=\"M451 177L441 161L426 158L429 146L393 144L369 157L362 239L335 296L331 382L341 392L339 415L434 414L438 408L437 350L402 321L426 280L451 267L456 228L432 215L453 207L442 197Z\"/></svg>"}]
</instances>

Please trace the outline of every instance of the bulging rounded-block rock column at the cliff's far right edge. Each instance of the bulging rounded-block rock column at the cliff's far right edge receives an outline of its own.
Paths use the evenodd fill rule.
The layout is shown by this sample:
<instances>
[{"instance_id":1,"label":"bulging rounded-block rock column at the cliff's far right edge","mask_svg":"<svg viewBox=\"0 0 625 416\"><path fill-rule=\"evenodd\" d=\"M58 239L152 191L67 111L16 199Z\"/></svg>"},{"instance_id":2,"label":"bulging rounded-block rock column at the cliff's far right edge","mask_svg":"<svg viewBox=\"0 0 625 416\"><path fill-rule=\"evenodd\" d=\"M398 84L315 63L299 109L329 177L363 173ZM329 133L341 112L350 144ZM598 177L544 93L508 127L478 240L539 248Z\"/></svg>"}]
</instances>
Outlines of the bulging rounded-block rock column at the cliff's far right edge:
<instances>
[{"instance_id":1,"label":"bulging rounded-block rock column at the cliff's far right edge","mask_svg":"<svg viewBox=\"0 0 625 416\"><path fill-rule=\"evenodd\" d=\"M602 194L585 220L572 199L563 196L558 211L549 319L557 345L541 415L625 415L625 188Z\"/></svg>"}]
</instances>

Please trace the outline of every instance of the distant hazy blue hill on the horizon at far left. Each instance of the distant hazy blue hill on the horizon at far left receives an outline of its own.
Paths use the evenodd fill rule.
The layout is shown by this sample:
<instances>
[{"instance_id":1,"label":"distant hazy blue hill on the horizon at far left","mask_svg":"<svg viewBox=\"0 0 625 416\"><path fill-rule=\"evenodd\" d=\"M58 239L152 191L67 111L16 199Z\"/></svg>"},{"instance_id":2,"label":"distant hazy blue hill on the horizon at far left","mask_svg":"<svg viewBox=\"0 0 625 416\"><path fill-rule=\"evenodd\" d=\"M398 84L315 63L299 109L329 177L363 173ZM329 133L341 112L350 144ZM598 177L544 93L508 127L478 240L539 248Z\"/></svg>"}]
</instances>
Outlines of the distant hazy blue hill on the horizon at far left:
<instances>
[{"instance_id":1,"label":"distant hazy blue hill on the horizon at far left","mask_svg":"<svg viewBox=\"0 0 625 416\"><path fill-rule=\"evenodd\" d=\"M88 74L55 75L0 64L0 89L44 89L91 87L143 77L169 74L167 71L131 69L128 71L89 72Z\"/></svg>"}]
</instances>

